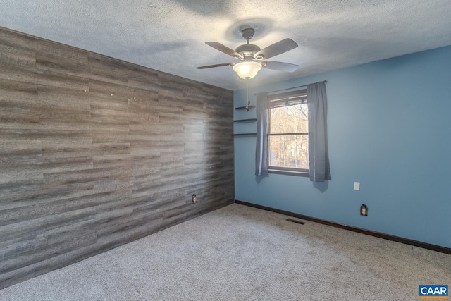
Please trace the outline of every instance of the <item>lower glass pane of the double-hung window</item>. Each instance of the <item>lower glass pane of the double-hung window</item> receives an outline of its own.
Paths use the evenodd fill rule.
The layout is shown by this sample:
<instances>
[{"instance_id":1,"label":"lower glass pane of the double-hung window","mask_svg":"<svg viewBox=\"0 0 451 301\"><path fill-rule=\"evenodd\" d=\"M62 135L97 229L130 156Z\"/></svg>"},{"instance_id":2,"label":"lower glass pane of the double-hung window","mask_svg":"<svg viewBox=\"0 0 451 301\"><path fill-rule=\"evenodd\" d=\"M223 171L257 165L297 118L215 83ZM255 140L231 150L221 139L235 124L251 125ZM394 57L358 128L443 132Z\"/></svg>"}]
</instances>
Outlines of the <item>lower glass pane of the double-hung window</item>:
<instances>
[{"instance_id":1,"label":"lower glass pane of the double-hung window","mask_svg":"<svg viewBox=\"0 0 451 301\"><path fill-rule=\"evenodd\" d=\"M309 136L269 136L269 166L309 169Z\"/></svg>"}]
</instances>

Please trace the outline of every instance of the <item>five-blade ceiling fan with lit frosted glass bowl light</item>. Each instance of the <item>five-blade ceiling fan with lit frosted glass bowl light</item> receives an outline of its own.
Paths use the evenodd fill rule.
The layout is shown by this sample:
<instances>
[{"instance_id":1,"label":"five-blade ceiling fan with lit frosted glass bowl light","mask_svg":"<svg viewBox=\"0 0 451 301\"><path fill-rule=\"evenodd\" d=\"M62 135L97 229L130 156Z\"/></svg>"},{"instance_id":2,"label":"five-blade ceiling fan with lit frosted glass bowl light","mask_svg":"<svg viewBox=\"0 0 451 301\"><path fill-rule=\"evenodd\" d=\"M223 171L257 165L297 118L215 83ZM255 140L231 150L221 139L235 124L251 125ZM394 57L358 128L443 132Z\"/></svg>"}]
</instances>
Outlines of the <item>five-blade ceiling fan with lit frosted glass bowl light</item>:
<instances>
[{"instance_id":1,"label":"five-blade ceiling fan with lit frosted glass bowl light","mask_svg":"<svg viewBox=\"0 0 451 301\"><path fill-rule=\"evenodd\" d=\"M257 45L249 44L249 40L254 36L255 30L253 28L245 28L241 31L242 37L247 41L246 44L242 44L237 49L230 49L218 42L206 42L205 44L217 49L229 56L233 56L235 59L240 60L239 63L218 63L216 65L197 67L197 69L216 68L222 66L233 66L233 70L242 79L254 78L257 72L263 67L272 70L279 70L285 72L293 72L298 65L292 63L282 63L279 61L266 61L273 56L283 54L286 51L295 49L297 43L292 39L283 39L277 43L269 45L264 49L260 49Z\"/></svg>"}]
</instances>

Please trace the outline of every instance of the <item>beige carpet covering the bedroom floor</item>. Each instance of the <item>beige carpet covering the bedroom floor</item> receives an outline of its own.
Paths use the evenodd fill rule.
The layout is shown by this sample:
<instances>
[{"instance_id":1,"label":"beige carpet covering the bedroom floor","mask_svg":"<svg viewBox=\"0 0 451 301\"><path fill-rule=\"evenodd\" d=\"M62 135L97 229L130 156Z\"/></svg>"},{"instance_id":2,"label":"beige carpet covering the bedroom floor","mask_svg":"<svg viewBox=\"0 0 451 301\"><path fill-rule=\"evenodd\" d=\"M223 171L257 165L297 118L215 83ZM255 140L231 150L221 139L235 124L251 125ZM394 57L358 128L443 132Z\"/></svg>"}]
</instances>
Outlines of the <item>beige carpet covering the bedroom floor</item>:
<instances>
[{"instance_id":1,"label":"beige carpet covering the bedroom floor","mask_svg":"<svg viewBox=\"0 0 451 301\"><path fill-rule=\"evenodd\" d=\"M0 300L418 300L451 255L232 204L0 290Z\"/></svg>"}]
</instances>

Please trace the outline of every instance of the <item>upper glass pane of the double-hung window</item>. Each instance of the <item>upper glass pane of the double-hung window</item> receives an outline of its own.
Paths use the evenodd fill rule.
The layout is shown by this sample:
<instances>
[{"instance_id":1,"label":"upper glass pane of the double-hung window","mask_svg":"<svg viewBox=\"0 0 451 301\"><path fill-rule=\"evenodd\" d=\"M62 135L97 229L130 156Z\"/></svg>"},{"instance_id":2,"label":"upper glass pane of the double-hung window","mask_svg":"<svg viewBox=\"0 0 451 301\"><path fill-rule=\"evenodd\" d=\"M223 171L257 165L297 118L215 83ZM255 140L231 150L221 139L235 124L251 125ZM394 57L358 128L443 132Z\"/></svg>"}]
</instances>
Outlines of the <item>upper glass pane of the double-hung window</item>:
<instances>
[{"instance_id":1,"label":"upper glass pane of the double-hung window","mask_svg":"<svg viewBox=\"0 0 451 301\"><path fill-rule=\"evenodd\" d=\"M271 134L309 132L307 104L280 106L270 109L269 113L269 129Z\"/></svg>"}]
</instances>

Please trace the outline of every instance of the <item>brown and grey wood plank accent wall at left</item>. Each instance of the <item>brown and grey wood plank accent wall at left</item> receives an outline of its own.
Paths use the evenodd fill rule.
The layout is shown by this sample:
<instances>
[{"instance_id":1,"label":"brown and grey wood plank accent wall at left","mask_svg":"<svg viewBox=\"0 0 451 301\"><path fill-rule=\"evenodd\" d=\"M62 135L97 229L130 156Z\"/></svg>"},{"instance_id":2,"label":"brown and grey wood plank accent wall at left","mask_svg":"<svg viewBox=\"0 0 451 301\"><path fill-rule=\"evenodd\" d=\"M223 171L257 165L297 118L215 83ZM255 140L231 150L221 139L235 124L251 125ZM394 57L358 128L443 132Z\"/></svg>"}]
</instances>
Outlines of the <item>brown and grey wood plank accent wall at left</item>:
<instances>
[{"instance_id":1,"label":"brown and grey wood plank accent wall at left","mask_svg":"<svg viewBox=\"0 0 451 301\"><path fill-rule=\"evenodd\" d=\"M0 110L0 288L234 201L232 91L0 27Z\"/></svg>"}]
</instances>

